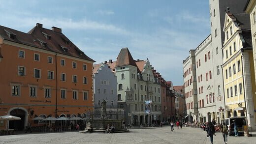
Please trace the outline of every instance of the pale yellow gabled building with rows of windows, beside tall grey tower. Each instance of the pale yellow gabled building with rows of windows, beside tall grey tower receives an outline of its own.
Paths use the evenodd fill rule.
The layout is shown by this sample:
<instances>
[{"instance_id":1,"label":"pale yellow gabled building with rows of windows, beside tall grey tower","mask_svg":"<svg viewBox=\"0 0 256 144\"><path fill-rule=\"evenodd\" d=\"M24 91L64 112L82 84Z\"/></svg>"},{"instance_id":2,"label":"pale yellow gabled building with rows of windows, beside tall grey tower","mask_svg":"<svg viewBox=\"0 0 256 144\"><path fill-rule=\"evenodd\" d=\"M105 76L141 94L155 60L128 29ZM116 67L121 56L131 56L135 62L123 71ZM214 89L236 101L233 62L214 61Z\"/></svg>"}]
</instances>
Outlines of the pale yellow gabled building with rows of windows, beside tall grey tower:
<instances>
[{"instance_id":1,"label":"pale yellow gabled building with rows of windows, beside tall grey tower","mask_svg":"<svg viewBox=\"0 0 256 144\"><path fill-rule=\"evenodd\" d=\"M223 74L225 116L247 116L255 129L255 72L249 14L227 11L224 21Z\"/></svg>"}]
</instances>

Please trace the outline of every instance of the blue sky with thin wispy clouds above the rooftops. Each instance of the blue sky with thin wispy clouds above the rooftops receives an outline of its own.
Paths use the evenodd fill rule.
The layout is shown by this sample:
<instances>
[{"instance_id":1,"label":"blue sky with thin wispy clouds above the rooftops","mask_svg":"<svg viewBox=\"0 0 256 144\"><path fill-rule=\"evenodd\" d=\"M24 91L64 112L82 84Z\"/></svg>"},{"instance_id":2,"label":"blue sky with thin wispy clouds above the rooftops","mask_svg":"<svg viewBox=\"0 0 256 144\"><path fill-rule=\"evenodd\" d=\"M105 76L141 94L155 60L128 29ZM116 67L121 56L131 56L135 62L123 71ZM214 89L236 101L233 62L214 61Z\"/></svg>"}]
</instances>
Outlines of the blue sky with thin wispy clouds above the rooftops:
<instances>
[{"instance_id":1,"label":"blue sky with thin wispy clouds above the rooftops","mask_svg":"<svg viewBox=\"0 0 256 144\"><path fill-rule=\"evenodd\" d=\"M0 25L58 27L96 63L128 47L166 81L183 85L183 60L210 34L209 0L0 0ZM96 64L95 63L95 64Z\"/></svg>"}]
</instances>

